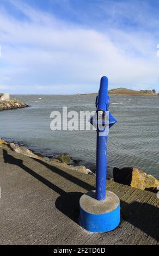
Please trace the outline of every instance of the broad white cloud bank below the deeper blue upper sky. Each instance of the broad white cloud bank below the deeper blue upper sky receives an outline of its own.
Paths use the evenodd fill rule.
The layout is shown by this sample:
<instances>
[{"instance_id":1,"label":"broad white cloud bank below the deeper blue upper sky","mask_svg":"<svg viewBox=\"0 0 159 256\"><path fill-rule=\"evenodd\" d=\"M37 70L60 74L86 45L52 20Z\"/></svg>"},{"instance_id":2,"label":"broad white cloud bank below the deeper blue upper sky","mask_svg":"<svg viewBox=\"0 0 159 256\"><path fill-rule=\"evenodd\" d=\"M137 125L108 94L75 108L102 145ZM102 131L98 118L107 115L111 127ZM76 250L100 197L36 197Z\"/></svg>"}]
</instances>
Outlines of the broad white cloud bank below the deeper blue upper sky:
<instances>
[{"instance_id":1,"label":"broad white cloud bank below the deeper blue upper sky","mask_svg":"<svg viewBox=\"0 0 159 256\"><path fill-rule=\"evenodd\" d=\"M143 84L155 88L159 58L148 32L126 33L114 28L99 32L72 26L22 4L17 8L28 20L20 22L4 11L0 14L1 77L23 84L30 93L48 92L49 88L50 93L93 92L103 75L108 76L111 88L142 89ZM32 84L46 88L33 88Z\"/></svg>"}]
</instances>

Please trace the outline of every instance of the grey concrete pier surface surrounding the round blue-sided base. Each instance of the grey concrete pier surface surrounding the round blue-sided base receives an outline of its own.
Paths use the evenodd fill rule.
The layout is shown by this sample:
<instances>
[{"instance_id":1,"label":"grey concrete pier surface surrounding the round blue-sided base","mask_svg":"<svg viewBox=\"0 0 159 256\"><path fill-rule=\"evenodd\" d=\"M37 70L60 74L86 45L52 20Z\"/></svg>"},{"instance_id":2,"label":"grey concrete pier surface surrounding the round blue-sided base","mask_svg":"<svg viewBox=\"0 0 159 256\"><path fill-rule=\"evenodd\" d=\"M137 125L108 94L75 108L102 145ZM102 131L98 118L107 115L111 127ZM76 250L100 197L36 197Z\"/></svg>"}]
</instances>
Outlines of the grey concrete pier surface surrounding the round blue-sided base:
<instances>
[{"instance_id":1,"label":"grey concrete pier surface surrounding the round blue-sided base","mask_svg":"<svg viewBox=\"0 0 159 256\"><path fill-rule=\"evenodd\" d=\"M120 198L121 223L94 234L78 216L79 198L95 189L95 176L0 148L0 186L1 245L159 245L155 193L108 180Z\"/></svg>"}]
</instances>

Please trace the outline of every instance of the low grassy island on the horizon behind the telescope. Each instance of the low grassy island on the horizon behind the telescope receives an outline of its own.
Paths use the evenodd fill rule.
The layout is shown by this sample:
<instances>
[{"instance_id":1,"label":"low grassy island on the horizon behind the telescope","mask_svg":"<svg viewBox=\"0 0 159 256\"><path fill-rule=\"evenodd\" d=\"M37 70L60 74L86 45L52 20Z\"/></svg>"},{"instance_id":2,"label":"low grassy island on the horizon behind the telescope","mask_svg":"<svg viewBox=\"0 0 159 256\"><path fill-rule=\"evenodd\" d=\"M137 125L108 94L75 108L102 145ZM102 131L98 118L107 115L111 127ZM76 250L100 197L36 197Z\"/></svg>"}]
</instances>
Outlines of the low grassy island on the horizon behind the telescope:
<instances>
[{"instance_id":1,"label":"low grassy island on the horizon behind the telescope","mask_svg":"<svg viewBox=\"0 0 159 256\"><path fill-rule=\"evenodd\" d=\"M81 94L81 95L97 95L97 93ZM126 88L116 88L109 90L109 95L120 95L120 96L157 96L155 90L131 90Z\"/></svg>"}]
</instances>

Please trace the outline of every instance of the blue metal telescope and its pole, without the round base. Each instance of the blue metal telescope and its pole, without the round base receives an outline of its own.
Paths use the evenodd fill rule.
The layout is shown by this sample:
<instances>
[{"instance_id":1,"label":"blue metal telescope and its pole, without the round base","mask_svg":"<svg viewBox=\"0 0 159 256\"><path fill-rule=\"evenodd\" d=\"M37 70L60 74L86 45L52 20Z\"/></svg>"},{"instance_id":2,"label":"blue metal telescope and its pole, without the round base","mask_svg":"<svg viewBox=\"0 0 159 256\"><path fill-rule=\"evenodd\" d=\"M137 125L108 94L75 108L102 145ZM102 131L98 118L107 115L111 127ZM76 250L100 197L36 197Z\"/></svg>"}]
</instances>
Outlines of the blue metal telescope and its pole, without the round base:
<instances>
[{"instance_id":1,"label":"blue metal telescope and its pole, without the round base","mask_svg":"<svg viewBox=\"0 0 159 256\"><path fill-rule=\"evenodd\" d=\"M100 81L99 94L96 97L96 112L103 112L102 124L106 124L106 113L109 116L109 120L106 125L109 124L109 128L113 124L117 123L117 120L113 115L108 112L109 108L109 95L108 95L108 78L103 76ZM92 121L92 120L91 120ZM107 173L107 140L108 133L106 127L101 130L101 121L97 119L97 142L96 142L96 199L106 199L106 173ZM102 134L103 133L103 134Z\"/></svg>"}]
</instances>

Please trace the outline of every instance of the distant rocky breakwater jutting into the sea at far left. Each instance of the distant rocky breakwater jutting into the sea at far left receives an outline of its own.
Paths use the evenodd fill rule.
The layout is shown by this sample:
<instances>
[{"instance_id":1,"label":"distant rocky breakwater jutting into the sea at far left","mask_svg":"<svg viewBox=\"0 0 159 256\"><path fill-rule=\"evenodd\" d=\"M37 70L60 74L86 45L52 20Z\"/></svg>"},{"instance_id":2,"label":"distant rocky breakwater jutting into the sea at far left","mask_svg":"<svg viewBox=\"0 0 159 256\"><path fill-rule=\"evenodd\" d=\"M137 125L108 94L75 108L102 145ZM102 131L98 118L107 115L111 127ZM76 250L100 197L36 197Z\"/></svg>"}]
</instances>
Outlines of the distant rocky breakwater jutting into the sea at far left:
<instances>
[{"instance_id":1,"label":"distant rocky breakwater jutting into the sea at far left","mask_svg":"<svg viewBox=\"0 0 159 256\"><path fill-rule=\"evenodd\" d=\"M17 99L0 101L0 111L7 110L7 109L25 108L25 107L29 107L29 106L26 103L19 101Z\"/></svg>"}]
</instances>

